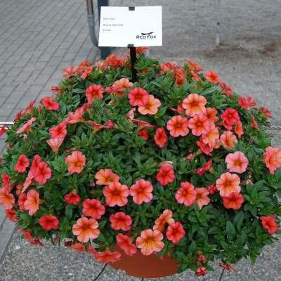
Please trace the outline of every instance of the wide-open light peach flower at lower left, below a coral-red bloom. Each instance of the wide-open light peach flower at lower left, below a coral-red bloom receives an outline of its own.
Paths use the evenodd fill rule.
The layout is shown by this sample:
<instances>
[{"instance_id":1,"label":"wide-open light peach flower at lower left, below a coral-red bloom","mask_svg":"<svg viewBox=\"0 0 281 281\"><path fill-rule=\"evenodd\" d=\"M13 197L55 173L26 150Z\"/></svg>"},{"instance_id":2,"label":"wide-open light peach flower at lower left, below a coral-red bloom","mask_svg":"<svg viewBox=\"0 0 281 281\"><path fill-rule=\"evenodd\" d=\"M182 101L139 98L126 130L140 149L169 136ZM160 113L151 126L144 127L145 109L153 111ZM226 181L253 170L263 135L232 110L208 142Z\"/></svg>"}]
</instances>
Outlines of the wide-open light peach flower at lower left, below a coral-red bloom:
<instances>
[{"instance_id":1,"label":"wide-open light peach flower at lower left, below a coral-red bloom","mask_svg":"<svg viewBox=\"0 0 281 281\"><path fill-rule=\"evenodd\" d=\"M72 233L77 236L77 240L82 243L88 242L90 239L96 239L100 235L98 230L98 221L93 218L79 218L72 226Z\"/></svg>"}]
</instances>

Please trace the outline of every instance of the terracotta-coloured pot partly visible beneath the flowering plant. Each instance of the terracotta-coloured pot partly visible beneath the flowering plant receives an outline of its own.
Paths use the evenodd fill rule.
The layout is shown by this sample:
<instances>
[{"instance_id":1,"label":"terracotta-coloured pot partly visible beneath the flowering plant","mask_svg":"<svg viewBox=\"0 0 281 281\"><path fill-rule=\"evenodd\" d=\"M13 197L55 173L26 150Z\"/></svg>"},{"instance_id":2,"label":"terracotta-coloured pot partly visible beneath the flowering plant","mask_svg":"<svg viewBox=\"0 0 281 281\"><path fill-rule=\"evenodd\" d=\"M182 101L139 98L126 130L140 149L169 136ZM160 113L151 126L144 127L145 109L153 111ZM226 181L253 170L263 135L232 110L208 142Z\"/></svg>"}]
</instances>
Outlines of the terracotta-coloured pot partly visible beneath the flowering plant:
<instances>
[{"instance_id":1,"label":"terracotta-coloured pot partly visible beneath the flowering plant","mask_svg":"<svg viewBox=\"0 0 281 281\"><path fill-rule=\"evenodd\" d=\"M110 266L115 269L126 271L127 275L143 278L159 278L171 276L177 273L178 264L170 256L157 258L156 254L144 256L141 251L137 251L133 256L127 256L124 251L117 249L122 253L121 259Z\"/></svg>"}]
</instances>

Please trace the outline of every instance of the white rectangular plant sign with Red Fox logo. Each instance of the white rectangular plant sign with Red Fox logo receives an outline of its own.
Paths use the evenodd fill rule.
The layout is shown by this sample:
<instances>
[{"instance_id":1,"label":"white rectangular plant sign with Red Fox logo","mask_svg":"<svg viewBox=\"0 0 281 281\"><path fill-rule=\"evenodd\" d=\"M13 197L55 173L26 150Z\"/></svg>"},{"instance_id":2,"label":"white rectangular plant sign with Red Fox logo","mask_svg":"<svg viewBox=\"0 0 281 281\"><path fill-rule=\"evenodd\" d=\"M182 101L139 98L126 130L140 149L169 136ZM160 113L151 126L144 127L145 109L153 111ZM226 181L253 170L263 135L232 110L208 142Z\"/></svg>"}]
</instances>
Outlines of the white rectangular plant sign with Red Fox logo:
<instances>
[{"instance_id":1,"label":"white rectangular plant sign with Red Fox logo","mask_svg":"<svg viewBox=\"0 0 281 281\"><path fill-rule=\"evenodd\" d=\"M98 46L162 46L162 6L101 7Z\"/></svg>"}]
</instances>

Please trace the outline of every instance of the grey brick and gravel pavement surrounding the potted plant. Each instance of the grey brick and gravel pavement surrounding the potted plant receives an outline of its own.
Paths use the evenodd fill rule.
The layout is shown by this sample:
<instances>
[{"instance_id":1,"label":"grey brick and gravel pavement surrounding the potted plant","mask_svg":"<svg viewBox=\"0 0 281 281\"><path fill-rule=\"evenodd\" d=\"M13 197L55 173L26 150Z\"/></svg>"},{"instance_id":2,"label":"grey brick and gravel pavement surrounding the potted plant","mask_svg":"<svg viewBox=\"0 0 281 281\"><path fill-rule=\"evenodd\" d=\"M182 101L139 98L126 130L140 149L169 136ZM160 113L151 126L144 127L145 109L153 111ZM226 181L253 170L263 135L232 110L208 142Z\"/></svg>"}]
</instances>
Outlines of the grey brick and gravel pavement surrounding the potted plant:
<instances>
[{"instance_id":1,"label":"grey brick and gravel pavement surrounding the potted plant","mask_svg":"<svg viewBox=\"0 0 281 281\"><path fill-rule=\"evenodd\" d=\"M281 124L280 0L224 0L220 6L219 0L111 2L163 5L164 46L153 48L151 55L177 61L188 56L204 69L217 71L235 91L268 106L274 115L272 124ZM84 58L93 60L96 49L87 36L83 4L75 0L0 0L0 119L12 119L30 100L45 96L51 84L60 80L63 67ZM215 45L217 32L219 47ZM281 147L281 133L273 132L273 136L274 144ZM8 240L1 233L1 220L0 211L0 245ZM243 261L236 266L237 274L228 274L224 280L281 280L280 251L280 242L268 247L256 266ZM18 233L0 262L1 281L93 280L100 269L89 256L68 249L30 247ZM218 274L202 280L218 280ZM107 269L100 280L137 279ZM163 280L196 278L186 272Z\"/></svg>"}]
</instances>

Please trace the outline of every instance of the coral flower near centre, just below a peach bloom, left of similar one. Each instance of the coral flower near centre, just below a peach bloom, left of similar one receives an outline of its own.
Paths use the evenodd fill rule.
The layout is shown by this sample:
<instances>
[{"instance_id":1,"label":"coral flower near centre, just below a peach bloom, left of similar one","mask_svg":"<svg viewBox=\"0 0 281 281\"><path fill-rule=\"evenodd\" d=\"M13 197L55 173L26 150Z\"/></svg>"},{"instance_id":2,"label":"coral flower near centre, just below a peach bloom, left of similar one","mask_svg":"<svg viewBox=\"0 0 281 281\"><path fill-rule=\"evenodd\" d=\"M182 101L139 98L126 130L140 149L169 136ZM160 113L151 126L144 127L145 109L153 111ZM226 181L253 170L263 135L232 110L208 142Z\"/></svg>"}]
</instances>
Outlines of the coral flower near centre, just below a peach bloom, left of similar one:
<instances>
[{"instance_id":1,"label":"coral flower near centre, just below a peach bloom, left of similar one","mask_svg":"<svg viewBox=\"0 0 281 281\"><path fill-rule=\"evenodd\" d=\"M103 188L105 202L110 207L125 206L128 203L129 188L121 183L113 182Z\"/></svg>"}]
</instances>

